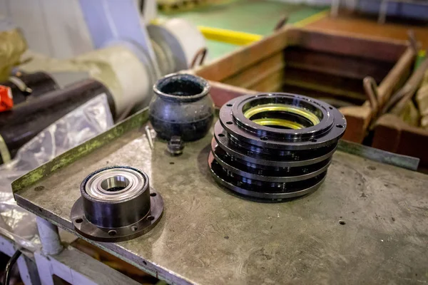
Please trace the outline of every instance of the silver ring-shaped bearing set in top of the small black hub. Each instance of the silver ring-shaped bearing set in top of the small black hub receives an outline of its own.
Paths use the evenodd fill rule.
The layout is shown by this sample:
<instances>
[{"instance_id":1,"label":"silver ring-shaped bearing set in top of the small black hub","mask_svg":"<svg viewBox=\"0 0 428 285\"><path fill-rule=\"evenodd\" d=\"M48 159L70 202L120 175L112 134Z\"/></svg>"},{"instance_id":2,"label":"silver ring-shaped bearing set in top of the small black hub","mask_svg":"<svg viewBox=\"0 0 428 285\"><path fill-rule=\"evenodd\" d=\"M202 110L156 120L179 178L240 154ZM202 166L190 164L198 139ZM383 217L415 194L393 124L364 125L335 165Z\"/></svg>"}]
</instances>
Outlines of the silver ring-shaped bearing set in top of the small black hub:
<instances>
[{"instance_id":1,"label":"silver ring-shaped bearing set in top of the small black hub","mask_svg":"<svg viewBox=\"0 0 428 285\"><path fill-rule=\"evenodd\" d=\"M141 173L128 168L112 168L96 173L85 185L86 193L101 201L121 201L136 197L146 180Z\"/></svg>"}]
</instances>

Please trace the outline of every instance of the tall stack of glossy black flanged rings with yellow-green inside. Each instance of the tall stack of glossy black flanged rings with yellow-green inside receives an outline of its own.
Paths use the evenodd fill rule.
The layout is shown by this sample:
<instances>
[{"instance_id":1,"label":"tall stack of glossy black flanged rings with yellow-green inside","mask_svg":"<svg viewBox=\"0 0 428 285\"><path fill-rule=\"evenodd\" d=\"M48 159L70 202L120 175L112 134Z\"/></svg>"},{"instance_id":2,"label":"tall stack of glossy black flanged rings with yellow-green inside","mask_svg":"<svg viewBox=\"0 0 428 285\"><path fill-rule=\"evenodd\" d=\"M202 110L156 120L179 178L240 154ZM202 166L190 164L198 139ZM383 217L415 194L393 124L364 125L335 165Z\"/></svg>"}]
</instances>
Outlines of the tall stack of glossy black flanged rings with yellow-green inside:
<instances>
[{"instance_id":1,"label":"tall stack of glossy black flanged rings with yellow-green inside","mask_svg":"<svg viewBox=\"0 0 428 285\"><path fill-rule=\"evenodd\" d=\"M208 164L238 194L282 200L317 190L345 117L320 100L289 93L245 95L220 109Z\"/></svg>"}]
</instances>

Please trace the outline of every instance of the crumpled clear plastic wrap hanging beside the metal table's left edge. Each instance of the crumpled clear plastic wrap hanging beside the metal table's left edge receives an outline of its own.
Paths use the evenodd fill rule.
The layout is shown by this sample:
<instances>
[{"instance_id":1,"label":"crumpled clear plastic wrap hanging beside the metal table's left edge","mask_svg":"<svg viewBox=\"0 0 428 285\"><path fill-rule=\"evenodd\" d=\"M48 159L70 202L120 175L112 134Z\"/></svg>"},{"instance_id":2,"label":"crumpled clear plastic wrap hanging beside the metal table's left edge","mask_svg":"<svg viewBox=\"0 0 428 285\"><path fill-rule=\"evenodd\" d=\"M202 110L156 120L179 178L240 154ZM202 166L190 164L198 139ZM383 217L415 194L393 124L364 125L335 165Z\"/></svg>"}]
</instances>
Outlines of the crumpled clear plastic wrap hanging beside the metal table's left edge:
<instances>
[{"instance_id":1,"label":"crumpled clear plastic wrap hanging beside the metal table's left edge","mask_svg":"<svg viewBox=\"0 0 428 285\"><path fill-rule=\"evenodd\" d=\"M39 249L36 216L16 205L11 182L112 125L107 96L99 95L43 130L21 147L14 160L1 165L0 233L31 252Z\"/></svg>"}]
</instances>

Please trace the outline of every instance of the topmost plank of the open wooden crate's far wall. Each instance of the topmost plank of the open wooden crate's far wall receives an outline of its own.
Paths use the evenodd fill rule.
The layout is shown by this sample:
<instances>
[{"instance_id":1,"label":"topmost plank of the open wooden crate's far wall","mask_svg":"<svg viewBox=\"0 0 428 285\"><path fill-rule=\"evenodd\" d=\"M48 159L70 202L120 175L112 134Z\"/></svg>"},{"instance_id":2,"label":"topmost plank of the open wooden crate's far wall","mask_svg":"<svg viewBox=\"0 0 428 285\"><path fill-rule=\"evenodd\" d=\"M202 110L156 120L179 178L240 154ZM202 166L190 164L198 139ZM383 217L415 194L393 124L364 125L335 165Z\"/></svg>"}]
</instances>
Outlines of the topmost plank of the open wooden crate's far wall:
<instances>
[{"instance_id":1,"label":"topmost plank of the open wooden crate's far wall","mask_svg":"<svg viewBox=\"0 0 428 285\"><path fill-rule=\"evenodd\" d=\"M309 28L290 29L287 31L287 41L313 51L360 56L378 61L397 61L407 48L404 41L374 40L353 33L320 32Z\"/></svg>"}]
</instances>

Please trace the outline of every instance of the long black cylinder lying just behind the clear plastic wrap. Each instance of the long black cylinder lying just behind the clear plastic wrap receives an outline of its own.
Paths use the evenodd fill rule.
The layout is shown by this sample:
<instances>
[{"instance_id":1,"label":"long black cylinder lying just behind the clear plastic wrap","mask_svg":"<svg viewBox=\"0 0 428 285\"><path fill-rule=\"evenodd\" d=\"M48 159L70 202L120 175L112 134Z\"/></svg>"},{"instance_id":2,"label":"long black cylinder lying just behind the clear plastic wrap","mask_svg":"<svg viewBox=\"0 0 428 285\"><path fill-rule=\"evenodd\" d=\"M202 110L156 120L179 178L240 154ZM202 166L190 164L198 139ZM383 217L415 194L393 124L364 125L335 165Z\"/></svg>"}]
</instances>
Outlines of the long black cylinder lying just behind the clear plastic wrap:
<instances>
[{"instance_id":1,"label":"long black cylinder lying just behind the clear plastic wrap","mask_svg":"<svg viewBox=\"0 0 428 285\"><path fill-rule=\"evenodd\" d=\"M0 145L6 145L13 158L21 146L46 127L101 94L106 94L111 113L114 114L111 93L102 83L92 79L46 93L31 100L31 103L19 104L0 113Z\"/></svg>"}]
</instances>

